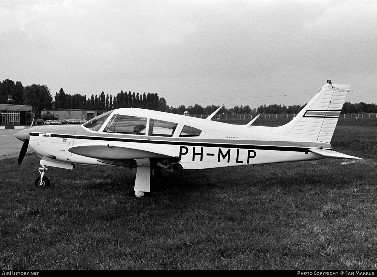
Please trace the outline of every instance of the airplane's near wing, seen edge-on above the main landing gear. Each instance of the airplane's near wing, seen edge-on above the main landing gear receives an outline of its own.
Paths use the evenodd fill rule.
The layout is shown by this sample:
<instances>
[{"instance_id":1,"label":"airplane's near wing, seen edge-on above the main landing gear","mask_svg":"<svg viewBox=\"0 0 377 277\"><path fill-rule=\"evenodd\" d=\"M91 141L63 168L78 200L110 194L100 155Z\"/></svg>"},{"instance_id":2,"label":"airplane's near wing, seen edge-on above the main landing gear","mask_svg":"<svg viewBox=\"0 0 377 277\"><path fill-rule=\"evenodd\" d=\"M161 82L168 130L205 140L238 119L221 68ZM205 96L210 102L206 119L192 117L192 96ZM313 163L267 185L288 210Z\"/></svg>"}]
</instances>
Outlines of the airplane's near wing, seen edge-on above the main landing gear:
<instances>
[{"instance_id":1,"label":"airplane's near wing, seen edge-on above the main landing gear","mask_svg":"<svg viewBox=\"0 0 377 277\"><path fill-rule=\"evenodd\" d=\"M127 143L106 144L104 142L89 142L68 147L68 151L77 155L104 160L178 158L167 153Z\"/></svg>"}]
</instances>

